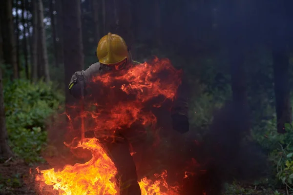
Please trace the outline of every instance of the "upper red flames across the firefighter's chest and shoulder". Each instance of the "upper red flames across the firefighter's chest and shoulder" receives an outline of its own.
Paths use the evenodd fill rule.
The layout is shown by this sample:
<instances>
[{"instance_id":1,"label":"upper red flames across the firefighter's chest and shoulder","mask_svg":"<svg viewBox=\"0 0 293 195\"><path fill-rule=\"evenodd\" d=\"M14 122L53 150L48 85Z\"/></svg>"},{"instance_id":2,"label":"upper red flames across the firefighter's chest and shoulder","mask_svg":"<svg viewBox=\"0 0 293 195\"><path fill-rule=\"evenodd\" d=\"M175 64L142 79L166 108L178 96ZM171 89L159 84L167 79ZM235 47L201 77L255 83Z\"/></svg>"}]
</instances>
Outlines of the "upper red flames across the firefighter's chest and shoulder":
<instances>
[{"instance_id":1,"label":"upper red flames across the firefighter's chest and shoulder","mask_svg":"<svg viewBox=\"0 0 293 195\"><path fill-rule=\"evenodd\" d=\"M142 63L131 69L121 71L121 75L109 73L93 78L94 82L101 81L105 86L111 86L115 81L125 81L121 86L126 94L135 94L137 100L144 102L150 98L163 95L173 99L178 86L181 84L182 72L176 70L168 59L155 58L151 64Z\"/></svg>"}]
</instances>

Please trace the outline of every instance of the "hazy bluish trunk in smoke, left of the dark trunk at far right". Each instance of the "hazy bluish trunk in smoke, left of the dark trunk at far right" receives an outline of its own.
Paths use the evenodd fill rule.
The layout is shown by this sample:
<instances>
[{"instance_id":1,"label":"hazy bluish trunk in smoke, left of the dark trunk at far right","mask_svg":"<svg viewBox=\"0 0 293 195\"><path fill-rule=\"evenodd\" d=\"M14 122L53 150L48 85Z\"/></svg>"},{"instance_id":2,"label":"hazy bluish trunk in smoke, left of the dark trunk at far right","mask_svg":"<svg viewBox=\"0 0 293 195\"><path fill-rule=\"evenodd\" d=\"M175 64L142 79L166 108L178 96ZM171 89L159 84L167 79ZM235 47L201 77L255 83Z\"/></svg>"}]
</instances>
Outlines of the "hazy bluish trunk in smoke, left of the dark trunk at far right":
<instances>
[{"instance_id":1,"label":"hazy bluish trunk in smoke, left of the dark trunk at far right","mask_svg":"<svg viewBox=\"0 0 293 195\"><path fill-rule=\"evenodd\" d=\"M234 105L248 110L246 73L244 68L247 45L246 7L239 2L226 0L222 4L222 35L228 47L231 73L231 88Z\"/></svg>"}]
</instances>

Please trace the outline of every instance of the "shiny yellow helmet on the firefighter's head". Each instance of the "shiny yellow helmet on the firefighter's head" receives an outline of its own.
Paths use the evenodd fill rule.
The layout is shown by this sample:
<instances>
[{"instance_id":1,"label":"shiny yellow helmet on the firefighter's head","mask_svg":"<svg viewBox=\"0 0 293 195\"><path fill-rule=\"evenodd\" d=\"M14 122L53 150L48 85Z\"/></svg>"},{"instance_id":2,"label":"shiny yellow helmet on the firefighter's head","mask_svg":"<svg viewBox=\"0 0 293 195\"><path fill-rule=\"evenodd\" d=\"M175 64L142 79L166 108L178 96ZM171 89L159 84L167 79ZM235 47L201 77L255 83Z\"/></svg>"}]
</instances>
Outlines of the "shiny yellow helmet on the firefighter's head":
<instances>
[{"instance_id":1,"label":"shiny yellow helmet on the firefighter's head","mask_svg":"<svg viewBox=\"0 0 293 195\"><path fill-rule=\"evenodd\" d=\"M125 60L128 57L125 40L119 35L108 33L98 43L97 57L100 63L107 65Z\"/></svg>"}]
</instances>

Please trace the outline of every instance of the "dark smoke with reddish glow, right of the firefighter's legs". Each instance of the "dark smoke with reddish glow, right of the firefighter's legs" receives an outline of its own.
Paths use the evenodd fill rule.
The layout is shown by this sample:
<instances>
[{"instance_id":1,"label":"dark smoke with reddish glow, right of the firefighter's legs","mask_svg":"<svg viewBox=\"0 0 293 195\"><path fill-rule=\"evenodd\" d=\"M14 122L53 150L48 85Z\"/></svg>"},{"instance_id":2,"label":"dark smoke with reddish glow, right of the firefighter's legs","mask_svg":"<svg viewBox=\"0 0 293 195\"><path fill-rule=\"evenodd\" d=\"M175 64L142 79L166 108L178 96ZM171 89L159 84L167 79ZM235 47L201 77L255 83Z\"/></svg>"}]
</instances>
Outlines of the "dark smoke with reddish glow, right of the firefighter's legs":
<instances>
[{"instance_id":1,"label":"dark smoke with reddish glow, right of the firefighter's legs","mask_svg":"<svg viewBox=\"0 0 293 195\"><path fill-rule=\"evenodd\" d=\"M172 130L163 111L154 113L161 141L144 151L139 175L166 169L168 185L179 185L182 195L220 195L224 183L253 181L268 171L266 155L247 138L250 120L243 107L227 103L218 110L201 142L196 141L195 132L181 135Z\"/></svg>"}]
</instances>

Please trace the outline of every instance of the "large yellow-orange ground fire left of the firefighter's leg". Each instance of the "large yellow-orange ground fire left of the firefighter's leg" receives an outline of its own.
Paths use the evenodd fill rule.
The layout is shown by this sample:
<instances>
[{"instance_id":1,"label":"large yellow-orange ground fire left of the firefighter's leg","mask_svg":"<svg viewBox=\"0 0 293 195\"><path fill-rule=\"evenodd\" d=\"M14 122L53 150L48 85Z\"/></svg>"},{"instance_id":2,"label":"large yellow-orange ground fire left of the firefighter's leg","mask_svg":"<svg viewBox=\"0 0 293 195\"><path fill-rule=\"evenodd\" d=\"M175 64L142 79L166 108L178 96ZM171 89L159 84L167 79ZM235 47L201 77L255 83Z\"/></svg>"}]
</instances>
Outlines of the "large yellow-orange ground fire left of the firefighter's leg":
<instances>
[{"instance_id":1,"label":"large yellow-orange ground fire left of the firefighter's leg","mask_svg":"<svg viewBox=\"0 0 293 195\"><path fill-rule=\"evenodd\" d=\"M42 175L37 175L36 181L53 186L60 195L115 195L117 191L111 179L117 170L97 139L85 139L75 148L78 147L91 151L92 158L88 162L74 166L66 165L62 171L40 171ZM42 192L49 190L46 186L40 187Z\"/></svg>"}]
</instances>

